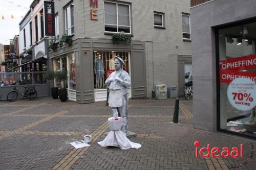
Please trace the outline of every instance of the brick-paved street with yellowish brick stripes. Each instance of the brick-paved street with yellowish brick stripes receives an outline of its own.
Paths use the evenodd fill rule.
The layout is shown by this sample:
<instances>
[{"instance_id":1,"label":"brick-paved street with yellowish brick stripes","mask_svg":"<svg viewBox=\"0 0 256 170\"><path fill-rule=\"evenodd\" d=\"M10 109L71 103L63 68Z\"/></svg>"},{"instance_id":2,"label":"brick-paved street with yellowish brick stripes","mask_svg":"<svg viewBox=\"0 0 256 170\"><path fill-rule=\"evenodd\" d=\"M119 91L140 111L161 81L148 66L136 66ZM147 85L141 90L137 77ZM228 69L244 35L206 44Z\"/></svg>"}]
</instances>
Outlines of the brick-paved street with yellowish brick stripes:
<instances>
[{"instance_id":1,"label":"brick-paved street with yellowish brick stripes","mask_svg":"<svg viewBox=\"0 0 256 170\"><path fill-rule=\"evenodd\" d=\"M0 102L0 169L228 169L249 156L247 139L193 129L192 102L180 101L180 124L174 125L175 100L130 100L129 129L138 134L130 139L142 147L125 151L97 144L108 131L105 102ZM91 146L74 149L70 142L85 134L93 135ZM195 140L221 148L243 142L245 158L195 158ZM254 160L236 169L256 169Z\"/></svg>"}]
</instances>

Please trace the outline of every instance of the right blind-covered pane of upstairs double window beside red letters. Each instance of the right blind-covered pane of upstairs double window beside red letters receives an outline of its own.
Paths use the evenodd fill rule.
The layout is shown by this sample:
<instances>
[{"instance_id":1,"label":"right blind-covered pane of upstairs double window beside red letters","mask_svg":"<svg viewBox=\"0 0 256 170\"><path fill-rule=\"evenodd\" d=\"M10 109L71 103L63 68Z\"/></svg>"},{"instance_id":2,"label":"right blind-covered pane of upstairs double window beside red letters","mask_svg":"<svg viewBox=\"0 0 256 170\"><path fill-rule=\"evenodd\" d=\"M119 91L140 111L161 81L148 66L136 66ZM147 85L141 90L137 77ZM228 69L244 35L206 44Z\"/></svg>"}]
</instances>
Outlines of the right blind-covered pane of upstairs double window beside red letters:
<instances>
[{"instance_id":1,"label":"right blind-covered pane of upstairs double window beside red letters","mask_svg":"<svg viewBox=\"0 0 256 170\"><path fill-rule=\"evenodd\" d=\"M129 6L118 4L118 25L130 26Z\"/></svg>"}]
</instances>

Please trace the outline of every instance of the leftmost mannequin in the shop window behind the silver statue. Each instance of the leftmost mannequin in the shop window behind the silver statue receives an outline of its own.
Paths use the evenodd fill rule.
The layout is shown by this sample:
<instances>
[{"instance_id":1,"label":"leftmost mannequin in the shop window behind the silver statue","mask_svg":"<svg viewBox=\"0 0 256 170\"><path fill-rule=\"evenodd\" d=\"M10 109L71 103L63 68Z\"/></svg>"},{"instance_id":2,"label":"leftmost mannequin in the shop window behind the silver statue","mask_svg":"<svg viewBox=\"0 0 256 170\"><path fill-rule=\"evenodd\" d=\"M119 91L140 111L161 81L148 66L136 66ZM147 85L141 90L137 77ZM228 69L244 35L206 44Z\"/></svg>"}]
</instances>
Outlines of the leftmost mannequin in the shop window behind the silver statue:
<instances>
[{"instance_id":1,"label":"leftmost mannequin in the shop window behind the silver statue","mask_svg":"<svg viewBox=\"0 0 256 170\"><path fill-rule=\"evenodd\" d=\"M103 60L101 59L100 55L96 56L94 63L95 63L94 71L96 75L96 85L97 85L97 88L101 89L103 87L102 83L104 79L104 69L103 69Z\"/></svg>"}]
</instances>

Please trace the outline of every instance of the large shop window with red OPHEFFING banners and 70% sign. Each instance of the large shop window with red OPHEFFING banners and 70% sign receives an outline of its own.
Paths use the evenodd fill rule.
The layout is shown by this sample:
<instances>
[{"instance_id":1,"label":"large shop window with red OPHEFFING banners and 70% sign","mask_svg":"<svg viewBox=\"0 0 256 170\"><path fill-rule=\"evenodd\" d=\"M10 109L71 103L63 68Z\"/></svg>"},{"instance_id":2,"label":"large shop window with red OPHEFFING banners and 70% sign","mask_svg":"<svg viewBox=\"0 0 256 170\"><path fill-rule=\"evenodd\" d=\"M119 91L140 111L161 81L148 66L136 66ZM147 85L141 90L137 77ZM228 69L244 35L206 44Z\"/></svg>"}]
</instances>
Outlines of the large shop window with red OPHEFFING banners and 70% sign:
<instances>
[{"instance_id":1,"label":"large shop window with red OPHEFFING banners and 70% sign","mask_svg":"<svg viewBox=\"0 0 256 170\"><path fill-rule=\"evenodd\" d=\"M256 138L256 22L219 30L219 129Z\"/></svg>"}]
</instances>

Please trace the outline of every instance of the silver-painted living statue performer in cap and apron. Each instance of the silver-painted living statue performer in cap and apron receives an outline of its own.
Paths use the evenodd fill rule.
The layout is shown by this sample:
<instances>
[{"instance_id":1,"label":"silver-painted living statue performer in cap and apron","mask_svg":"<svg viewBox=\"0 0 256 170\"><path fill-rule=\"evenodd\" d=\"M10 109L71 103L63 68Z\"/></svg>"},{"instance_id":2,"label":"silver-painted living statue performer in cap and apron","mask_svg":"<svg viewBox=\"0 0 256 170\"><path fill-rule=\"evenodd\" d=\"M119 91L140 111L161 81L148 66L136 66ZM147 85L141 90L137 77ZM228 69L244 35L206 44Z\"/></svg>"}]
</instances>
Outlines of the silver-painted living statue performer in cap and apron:
<instances>
[{"instance_id":1,"label":"silver-painted living statue performer in cap and apron","mask_svg":"<svg viewBox=\"0 0 256 170\"><path fill-rule=\"evenodd\" d=\"M112 107L114 117L122 117L122 131L127 134L128 119L127 119L127 104L129 91L127 87L131 87L131 78L129 74L122 69L125 65L124 61L115 56L115 71L111 73L105 84L110 89L109 106Z\"/></svg>"}]
</instances>

